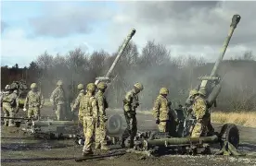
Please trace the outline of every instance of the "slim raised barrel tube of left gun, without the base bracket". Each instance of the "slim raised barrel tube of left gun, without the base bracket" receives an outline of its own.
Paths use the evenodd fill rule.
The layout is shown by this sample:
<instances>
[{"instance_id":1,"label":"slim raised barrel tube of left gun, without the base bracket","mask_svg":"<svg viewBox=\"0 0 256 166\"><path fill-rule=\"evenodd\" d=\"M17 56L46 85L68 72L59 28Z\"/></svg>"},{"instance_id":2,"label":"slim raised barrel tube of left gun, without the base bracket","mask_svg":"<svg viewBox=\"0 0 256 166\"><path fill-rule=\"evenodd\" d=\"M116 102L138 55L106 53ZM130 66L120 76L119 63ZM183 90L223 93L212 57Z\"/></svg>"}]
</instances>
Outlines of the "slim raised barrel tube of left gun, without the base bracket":
<instances>
[{"instance_id":1,"label":"slim raised barrel tube of left gun, without the base bracket","mask_svg":"<svg viewBox=\"0 0 256 166\"><path fill-rule=\"evenodd\" d=\"M110 76L110 74L112 73L114 67L117 65L117 63L118 63L118 61L119 61L119 59L120 59L120 57L121 57L121 55L122 55L124 49L125 49L126 46L128 45L128 42L131 41L131 39L133 38L135 32L136 32L136 30L133 29L133 30L129 33L129 35L127 36L126 40L123 41L122 47L121 47L121 49L120 49L120 51L119 51L119 53L118 53L116 59L114 60L113 64L110 66L109 71L108 71L108 73L106 74L105 77L109 77L109 76Z\"/></svg>"}]
</instances>

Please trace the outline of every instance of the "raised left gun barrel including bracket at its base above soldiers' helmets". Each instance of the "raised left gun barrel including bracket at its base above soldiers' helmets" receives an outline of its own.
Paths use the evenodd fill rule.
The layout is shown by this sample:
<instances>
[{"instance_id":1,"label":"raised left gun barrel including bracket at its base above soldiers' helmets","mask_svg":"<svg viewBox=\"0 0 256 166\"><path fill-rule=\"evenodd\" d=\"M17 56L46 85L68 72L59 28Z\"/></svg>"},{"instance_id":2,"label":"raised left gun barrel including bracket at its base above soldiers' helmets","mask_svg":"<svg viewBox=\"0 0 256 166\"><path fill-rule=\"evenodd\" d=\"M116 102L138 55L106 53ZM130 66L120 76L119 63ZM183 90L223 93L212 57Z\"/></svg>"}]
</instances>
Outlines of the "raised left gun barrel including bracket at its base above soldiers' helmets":
<instances>
[{"instance_id":1,"label":"raised left gun barrel including bracket at its base above soldiers' helmets","mask_svg":"<svg viewBox=\"0 0 256 166\"><path fill-rule=\"evenodd\" d=\"M126 48L126 46L128 45L129 41L131 41L131 39L133 38L134 34L135 34L136 30L132 30L127 38L125 39L125 41L123 41L122 43L122 47L119 50L119 53L117 54L117 57L115 58L113 64L110 66L108 73L105 75L105 77L96 77L96 82L95 84L97 84L99 81L105 81L105 82L109 82L110 81L110 74L113 72L115 66L117 65L118 61L120 60L122 53L124 51L124 49Z\"/></svg>"}]
</instances>

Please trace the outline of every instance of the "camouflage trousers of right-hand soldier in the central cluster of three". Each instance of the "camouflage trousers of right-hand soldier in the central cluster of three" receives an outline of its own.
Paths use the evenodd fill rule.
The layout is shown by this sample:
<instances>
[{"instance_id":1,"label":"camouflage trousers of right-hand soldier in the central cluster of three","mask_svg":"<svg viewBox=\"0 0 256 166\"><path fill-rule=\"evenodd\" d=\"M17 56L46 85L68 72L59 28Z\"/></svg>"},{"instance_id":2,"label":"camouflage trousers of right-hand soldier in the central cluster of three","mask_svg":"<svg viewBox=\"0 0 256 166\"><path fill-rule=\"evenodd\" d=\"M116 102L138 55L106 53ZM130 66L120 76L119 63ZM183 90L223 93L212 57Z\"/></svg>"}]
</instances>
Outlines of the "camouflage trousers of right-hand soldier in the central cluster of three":
<instances>
[{"instance_id":1,"label":"camouflage trousers of right-hand soldier in the central cluster of three","mask_svg":"<svg viewBox=\"0 0 256 166\"><path fill-rule=\"evenodd\" d=\"M106 140L106 133L107 133L107 125L106 122L104 122L103 119L99 120L99 125L96 127L96 148L101 147L105 148L107 146L107 140Z\"/></svg>"}]
</instances>

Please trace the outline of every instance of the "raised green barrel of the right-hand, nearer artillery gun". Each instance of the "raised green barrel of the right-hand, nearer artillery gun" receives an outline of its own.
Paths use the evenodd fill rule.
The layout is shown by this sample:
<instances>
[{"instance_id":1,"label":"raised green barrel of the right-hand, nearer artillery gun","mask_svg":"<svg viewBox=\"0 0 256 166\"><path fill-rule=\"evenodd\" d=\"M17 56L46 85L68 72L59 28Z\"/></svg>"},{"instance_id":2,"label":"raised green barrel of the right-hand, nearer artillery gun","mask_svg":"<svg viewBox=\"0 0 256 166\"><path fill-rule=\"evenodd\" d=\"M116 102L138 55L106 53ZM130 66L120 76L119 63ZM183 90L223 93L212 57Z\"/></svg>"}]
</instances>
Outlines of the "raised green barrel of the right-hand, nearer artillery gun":
<instances>
[{"instance_id":1,"label":"raised green barrel of the right-hand, nearer artillery gun","mask_svg":"<svg viewBox=\"0 0 256 166\"><path fill-rule=\"evenodd\" d=\"M233 18L232 18L232 22L230 24L230 29L229 29L229 32L228 32L228 35L224 41L224 45L223 45L223 48L221 50L221 53L219 55L219 58L218 60L216 61L215 65L213 66L213 69L211 71L211 77L215 76L216 73L217 73L217 69L219 68L219 65L221 63L221 61L223 60L224 58L224 53L226 51L226 48L228 46L228 43L233 35L233 32L234 30L237 28L237 24L239 23L241 17L239 15L234 15Z\"/></svg>"}]
</instances>

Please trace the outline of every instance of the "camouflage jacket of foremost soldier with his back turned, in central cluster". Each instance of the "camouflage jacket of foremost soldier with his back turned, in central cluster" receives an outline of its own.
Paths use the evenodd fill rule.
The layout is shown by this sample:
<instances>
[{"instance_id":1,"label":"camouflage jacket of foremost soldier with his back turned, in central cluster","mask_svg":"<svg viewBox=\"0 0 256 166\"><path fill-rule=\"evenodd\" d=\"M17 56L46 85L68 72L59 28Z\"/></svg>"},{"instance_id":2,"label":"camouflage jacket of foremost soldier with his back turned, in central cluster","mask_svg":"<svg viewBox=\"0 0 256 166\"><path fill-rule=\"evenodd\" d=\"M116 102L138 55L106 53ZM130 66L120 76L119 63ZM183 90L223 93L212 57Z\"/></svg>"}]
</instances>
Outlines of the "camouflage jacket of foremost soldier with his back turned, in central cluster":
<instances>
[{"instance_id":1,"label":"camouflage jacket of foremost soldier with his back turned, in central cluster","mask_svg":"<svg viewBox=\"0 0 256 166\"><path fill-rule=\"evenodd\" d=\"M83 95L79 104L79 111L81 116L93 116L97 118L98 108L96 97L91 93Z\"/></svg>"}]
</instances>

